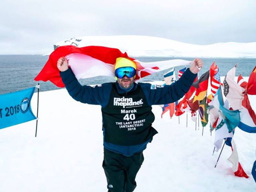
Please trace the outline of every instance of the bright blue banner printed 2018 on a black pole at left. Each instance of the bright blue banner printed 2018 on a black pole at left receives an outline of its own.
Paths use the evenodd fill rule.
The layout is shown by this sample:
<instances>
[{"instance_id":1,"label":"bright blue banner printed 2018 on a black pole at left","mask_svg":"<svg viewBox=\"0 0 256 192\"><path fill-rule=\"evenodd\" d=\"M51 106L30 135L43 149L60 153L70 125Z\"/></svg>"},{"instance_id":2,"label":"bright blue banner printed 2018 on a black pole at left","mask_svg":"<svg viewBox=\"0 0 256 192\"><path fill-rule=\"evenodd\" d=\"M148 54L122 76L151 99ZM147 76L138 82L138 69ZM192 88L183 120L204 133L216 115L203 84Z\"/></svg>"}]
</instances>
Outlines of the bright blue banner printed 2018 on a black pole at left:
<instances>
[{"instance_id":1,"label":"bright blue banner printed 2018 on a black pole at left","mask_svg":"<svg viewBox=\"0 0 256 192\"><path fill-rule=\"evenodd\" d=\"M0 95L0 129L36 119L30 101L35 87Z\"/></svg>"}]
</instances>

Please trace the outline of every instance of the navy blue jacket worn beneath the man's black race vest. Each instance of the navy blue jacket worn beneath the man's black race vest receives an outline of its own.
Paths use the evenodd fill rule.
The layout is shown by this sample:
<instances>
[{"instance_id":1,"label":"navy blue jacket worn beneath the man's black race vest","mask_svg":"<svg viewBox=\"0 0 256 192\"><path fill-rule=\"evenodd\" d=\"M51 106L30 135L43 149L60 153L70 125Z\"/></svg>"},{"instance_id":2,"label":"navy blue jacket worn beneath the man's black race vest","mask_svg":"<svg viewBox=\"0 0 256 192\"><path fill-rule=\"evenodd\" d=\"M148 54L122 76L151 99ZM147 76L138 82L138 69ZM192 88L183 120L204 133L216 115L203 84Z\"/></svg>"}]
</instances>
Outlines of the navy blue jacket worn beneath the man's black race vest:
<instances>
[{"instance_id":1,"label":"navy blue jacket worn beneath the man's black race vest","mask_svg":"<svg viewBox=\"0 0 256 192\"><path fill-rule=\"evenodd\" d=\"M108 102L110 100L110 93L112 90L112 83L104 83L100 86L94 87L85 85L82 86L78 82L70 68L64 72L60 72L60 76L66 86L66 89L68 90L68 93L75 100L82 103L100 105L102 106L102 108L108 105ZM190 89L190 86L192 85L196 76L197 74L193 74L188 68L181 76L181 78L171 85L166 85L164 87L152 87L149 83L140 83L140 86L150 106L168 104L182 98L184 94L186 94L186 92L188 92L188 90ZM117 82L115 85L119 94L125 93L125 90L120 88ZM136 88L137 84L134 83L134 86L130 91L133 91ZM132 156L134 153L145 150L148 142L151 142L151 140L148 140L147 142L136 146L120 146L107 143L105 141L103 145L104 148L110 151L123 154L124 156Z\"/></svg>"}]
</instances>

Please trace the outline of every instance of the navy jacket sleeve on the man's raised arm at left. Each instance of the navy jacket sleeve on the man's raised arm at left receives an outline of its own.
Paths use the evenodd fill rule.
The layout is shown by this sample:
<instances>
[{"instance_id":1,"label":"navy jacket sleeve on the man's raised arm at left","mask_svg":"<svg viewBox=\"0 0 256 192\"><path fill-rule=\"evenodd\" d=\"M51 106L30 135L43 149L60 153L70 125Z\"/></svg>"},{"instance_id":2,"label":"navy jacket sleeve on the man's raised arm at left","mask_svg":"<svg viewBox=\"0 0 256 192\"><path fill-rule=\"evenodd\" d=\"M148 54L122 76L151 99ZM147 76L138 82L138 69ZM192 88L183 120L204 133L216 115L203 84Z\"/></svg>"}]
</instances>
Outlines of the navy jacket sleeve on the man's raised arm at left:
<instances>
[{"instance_id":1,"label":"navy jacket sleeve on the man's raised arm at left","mask_svg":"<svg viewBox=\"0 0 256 192\"><path fill-rule=\"evenodd\" d=\"M112 84L102 84L100 86L82 86L76 79L71 68L64 72L60 72L63 83L68 90L68 93L74 100L82 103L101 105L102 107L107 106Z\"/></svg>"}]
</instances>

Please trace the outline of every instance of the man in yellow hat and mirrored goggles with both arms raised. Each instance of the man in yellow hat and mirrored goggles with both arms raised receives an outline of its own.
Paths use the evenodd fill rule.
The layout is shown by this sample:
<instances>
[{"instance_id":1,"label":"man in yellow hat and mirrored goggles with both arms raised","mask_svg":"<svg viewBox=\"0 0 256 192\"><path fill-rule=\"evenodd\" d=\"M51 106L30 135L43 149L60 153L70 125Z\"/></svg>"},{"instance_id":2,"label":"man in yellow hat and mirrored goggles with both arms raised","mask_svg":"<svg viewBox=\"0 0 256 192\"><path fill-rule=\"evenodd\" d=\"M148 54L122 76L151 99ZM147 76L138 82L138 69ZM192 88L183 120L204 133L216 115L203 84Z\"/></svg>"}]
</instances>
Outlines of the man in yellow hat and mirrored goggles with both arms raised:
<instances>
[{"instance_id":1,"label":"man in yellow hat and mirrored goggles with both arms raised","mask_svg":"<svg viewBox=\"0 0 256 192\"><path fill-rule=\"evenodd\" d=\"M158 133L152 127L154 114L151 106L172 103L182 98L196 78L198 68L202 66L202 61L195 59L178 81L161 87L134 83L136 64L128 58L117 58L117 82L91 87L82 86L68 68L66 58L59 58L57 67L70 96L82 103L102 106L102 166L108 192L134 191L135 177L144 160L142 152Z\"/></svg>"}]
</instances>

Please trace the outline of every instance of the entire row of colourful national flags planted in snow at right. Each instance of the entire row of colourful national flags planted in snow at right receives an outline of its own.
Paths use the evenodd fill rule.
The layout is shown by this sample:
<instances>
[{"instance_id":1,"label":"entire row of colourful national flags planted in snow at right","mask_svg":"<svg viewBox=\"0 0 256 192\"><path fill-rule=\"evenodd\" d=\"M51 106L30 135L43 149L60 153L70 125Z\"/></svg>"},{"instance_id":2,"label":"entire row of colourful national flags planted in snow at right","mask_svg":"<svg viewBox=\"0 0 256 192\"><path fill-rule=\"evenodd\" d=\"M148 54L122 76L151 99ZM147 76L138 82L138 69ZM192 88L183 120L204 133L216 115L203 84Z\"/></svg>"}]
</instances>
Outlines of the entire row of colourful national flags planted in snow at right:
<instances>
[{"instance_id":1,"label":"entire row of colourful national flags planted in snow at right","mask_svg":"<svg viewBox=\"0 0 256 192\"><path fill-rule=\"evenodd\" d=\"M185 70L186 68L183 68L179 71L178 78L182 76ZM180 102L163 106L162 116L170 110L171 117L174 114L180 116L186 111L189 111L193 117L198 110L202 126L205 127L210 121L210 131L215 130L215 151L221 148L223 140L230 140L229 146L232 149L232 154L228 160L233 165L234 174L248 178L239 162L233 136L236 127L248 133L256 133L256 114L248 98L248 94L256 95L256 67L252 70L248 82L241 75L238 76L238 81L236 82L234 80L235 72L236 66L228 71L222 83L219 68L213 62L210 69L195 80L190 91L185 94ZM170 78L168 74L172 76L172 81L169 80L168 83L175 82L174 68L164 75L165 82ZM209 85L210 92L208 93ZM226 98L225 101L224 96ZM176 112L174 112L174 108ZM252 169L252 175L256 179L255 167L256 161L254 162L254 169Z\"/></svg>"}]
</instances>

